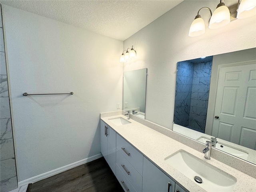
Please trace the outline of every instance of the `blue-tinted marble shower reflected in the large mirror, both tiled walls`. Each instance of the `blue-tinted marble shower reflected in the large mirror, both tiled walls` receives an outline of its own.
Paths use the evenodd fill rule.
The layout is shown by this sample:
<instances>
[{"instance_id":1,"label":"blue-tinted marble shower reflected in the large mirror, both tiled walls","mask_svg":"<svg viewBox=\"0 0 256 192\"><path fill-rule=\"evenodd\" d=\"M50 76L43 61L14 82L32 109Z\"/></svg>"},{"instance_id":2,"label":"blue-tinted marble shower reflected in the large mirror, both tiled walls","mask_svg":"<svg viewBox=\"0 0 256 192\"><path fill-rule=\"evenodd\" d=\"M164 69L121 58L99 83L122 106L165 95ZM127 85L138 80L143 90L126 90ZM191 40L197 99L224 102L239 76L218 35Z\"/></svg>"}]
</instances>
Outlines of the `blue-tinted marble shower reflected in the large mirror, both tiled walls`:
<instances>
[{"instance_id":1,"label":"blue-tinted marble shower reflected in the large mirror, both tiled walls","mask_svg":"<svg viewBox=\"0 0 256 192\"><path fill-rule=\"evenodd\" d=\"M204 133L212 56L178 62L174 122Z\"/></svg>"}]
</instances>

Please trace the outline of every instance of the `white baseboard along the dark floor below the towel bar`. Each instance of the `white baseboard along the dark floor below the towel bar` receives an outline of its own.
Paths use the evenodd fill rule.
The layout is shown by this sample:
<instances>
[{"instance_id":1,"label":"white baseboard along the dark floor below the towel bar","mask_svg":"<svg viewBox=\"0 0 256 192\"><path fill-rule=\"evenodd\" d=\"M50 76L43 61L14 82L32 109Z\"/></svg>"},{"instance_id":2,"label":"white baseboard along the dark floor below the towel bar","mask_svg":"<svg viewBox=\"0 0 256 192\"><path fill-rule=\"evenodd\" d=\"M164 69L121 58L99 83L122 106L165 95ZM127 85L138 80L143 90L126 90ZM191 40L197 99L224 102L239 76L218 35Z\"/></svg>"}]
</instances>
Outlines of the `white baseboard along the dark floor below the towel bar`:
<instances>
[{"instance_id":1,"label":"white baseboard along the dark floor below the towel bar","mask_svg":"<svg viewBox=\"0 0 256 192\"><path fill-rule=\"evenodd\" d=\"M20 182L18 182L18 187L21 187L21 186L26 185L26 184L38 182L40 180L43 180L43 179L46 179L48 177L54 176L56 174L59 174L61 172L64 172L66 170L72 169L74 167L80 166L82 164L88 163L90 161L96 160L96 159L101 158L101 157L102 157L102 154L100 153L100 154L94 155L92 157L89 157L89 158L86 158L86 159L74 162L72 164L69 164L69 165L66 165L66 166L63 166L63 167L60 167L58 169L54 169L52 171L40 174L38 176L34 176L32 178L20 181Z\"/></svg>"}]
</instances>

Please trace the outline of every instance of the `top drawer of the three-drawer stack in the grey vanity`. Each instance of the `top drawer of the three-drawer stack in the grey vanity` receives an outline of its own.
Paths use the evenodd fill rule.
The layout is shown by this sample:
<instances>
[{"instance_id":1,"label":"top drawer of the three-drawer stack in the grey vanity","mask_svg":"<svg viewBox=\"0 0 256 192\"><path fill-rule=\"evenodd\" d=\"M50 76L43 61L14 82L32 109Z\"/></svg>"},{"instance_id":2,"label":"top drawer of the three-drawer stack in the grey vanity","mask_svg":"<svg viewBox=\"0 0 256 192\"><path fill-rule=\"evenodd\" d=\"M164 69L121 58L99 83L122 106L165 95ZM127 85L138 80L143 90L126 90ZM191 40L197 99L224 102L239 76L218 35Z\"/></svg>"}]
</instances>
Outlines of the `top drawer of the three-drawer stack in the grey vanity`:
<instances>
[{"instance_id":1,"label":"top drawer of the three-drawer stack in the grey vanity","mask_svg":"<svg viewBox=\"0 0 256 192\"><path fill-rule=\"evenodd\" d=\"M116 134L116 148L132 164L138 173L142 175L143 155L118 134Z\"/></svg>"}]
</instances>

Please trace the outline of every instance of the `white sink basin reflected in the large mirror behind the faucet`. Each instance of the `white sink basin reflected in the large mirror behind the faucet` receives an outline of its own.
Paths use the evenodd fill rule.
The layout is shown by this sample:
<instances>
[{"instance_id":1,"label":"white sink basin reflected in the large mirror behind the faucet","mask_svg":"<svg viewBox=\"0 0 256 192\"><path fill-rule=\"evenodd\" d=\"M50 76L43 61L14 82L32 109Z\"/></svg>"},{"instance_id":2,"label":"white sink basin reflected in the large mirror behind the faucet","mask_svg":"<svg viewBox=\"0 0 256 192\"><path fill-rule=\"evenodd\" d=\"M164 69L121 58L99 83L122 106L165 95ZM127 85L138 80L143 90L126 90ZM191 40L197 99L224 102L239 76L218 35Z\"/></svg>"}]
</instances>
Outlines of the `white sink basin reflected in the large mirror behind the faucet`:
<instances>
[{"instance_id":1,"label":"white sink basin reflected in the large mirror behind the faucet","mask_svg":"<svg viewBox=\"0 0 256 192\"><path fill-rule=\"evenodd\" d=\"M200 137L197 140L202 142L202 143L206 143L206 141L210 141L210 138ZM215 148L219 149L219 150L222 150L226 153L229 153L231 155L234 155L236 157L239 157L243 160L247 160L247 158L248 158L248 153L246 153L244 151L241 151L241 150L238 150L238 149L235 149L235 148L232 148L232 147L227 146L226 144L223 144L223 143L220 143L220 142L216 143Z\"/></svg>"}]
</instances>

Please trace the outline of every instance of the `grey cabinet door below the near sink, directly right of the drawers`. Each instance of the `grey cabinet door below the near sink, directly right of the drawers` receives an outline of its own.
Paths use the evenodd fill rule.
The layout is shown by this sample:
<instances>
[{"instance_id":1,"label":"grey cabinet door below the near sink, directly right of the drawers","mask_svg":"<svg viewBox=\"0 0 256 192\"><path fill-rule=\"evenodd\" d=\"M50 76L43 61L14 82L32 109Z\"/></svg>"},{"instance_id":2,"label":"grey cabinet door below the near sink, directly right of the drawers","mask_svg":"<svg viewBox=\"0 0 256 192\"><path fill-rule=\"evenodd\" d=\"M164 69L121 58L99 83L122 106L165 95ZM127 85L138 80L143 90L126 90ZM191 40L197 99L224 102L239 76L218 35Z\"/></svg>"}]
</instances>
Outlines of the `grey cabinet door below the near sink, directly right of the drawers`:
<instances>
[{"instance_id":1,"label":"grey cabinet door below the near sink, directly right of the drawers","mask_svg":"<svg viewBox=\"0 0 256 192\"><path fill-rule=\"evenodd\" d=\"M175 182L145 157L142 177L142 192L174 192Z\"/></svg>"}]
</instances>

